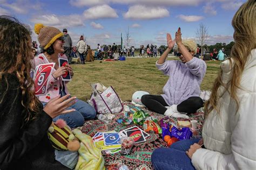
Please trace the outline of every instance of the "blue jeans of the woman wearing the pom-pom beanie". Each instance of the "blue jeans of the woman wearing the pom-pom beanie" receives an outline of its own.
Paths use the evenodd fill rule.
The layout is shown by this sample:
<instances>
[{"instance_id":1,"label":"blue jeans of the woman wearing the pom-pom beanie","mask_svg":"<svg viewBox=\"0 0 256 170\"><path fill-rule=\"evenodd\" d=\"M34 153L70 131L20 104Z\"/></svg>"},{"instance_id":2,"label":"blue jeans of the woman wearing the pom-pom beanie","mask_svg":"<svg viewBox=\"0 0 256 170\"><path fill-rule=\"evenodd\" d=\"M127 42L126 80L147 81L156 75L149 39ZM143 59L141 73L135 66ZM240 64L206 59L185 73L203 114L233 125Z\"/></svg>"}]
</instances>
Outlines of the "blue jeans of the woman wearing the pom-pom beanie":
<instances>
[{"instance_id":1,"label":"blue jeans of the woman wearing the pom-pom beanie","mask_svg":"<svg viewBox=\"0 0 256 170\"><path fill-rule=\"evenodd\" d=\"M44 106L47 104L46 102L42 103ZM53 122L56 122L57 119L64 119L70 128L76 128L83 126L85 120L93 119L96 116L96 110L90 104L79 99L77 99L77 102L71 105L71 107L67 108L67 110L69 109L76 109L76 111L59 115L53 118Z\"/></svg>"}]
</instances>

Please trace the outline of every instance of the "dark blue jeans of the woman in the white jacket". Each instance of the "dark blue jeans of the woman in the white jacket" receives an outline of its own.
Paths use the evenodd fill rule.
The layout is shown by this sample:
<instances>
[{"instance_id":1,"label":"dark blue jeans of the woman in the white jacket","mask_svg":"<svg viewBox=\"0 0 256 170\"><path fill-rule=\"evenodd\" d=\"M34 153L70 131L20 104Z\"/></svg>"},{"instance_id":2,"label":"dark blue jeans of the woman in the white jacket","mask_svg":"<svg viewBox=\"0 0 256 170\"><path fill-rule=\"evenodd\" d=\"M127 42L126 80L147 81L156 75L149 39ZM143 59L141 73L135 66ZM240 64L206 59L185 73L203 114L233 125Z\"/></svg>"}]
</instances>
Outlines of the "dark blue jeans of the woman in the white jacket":
<instances>
[{"instance_id":1,"label":"dark blue jeans of the woman in the white jacket","mask_svg":"<svg viewBox=\"0 0 256 170\"><path fill-rule=\"evenodd\" d=\"M170 148L157 148L151 155L154 169L195 169L186 151L200 139L180 140Z\"/></svg>"}]
</instances>

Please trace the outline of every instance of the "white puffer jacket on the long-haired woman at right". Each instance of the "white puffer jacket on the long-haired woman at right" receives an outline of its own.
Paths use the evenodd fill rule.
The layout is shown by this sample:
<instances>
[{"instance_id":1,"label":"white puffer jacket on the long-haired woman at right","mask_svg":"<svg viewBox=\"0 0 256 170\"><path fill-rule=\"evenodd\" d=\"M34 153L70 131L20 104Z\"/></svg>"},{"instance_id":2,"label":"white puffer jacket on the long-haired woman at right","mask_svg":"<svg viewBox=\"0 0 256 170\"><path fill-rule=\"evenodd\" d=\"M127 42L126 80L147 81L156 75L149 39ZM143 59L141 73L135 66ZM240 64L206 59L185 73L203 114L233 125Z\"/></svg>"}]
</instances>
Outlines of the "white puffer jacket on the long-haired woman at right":
<instances>
[{"instance_id":1,"label":"white puffer jacket on the long-haired woman at right","mask_svg":"<svg viewBox=\"0 0 256 170\"><path fill-rule=\"evenodd\" d=\"M224 83L230 79L231 64L221 63ZM256 49L247 59L237 91L239 109L226 91L220 98L220 114L213 110L203 127L204 145L192 156L196 169L256 169ZM219 89L219 93L224 90Z\"/></svg>"}]
</instances>

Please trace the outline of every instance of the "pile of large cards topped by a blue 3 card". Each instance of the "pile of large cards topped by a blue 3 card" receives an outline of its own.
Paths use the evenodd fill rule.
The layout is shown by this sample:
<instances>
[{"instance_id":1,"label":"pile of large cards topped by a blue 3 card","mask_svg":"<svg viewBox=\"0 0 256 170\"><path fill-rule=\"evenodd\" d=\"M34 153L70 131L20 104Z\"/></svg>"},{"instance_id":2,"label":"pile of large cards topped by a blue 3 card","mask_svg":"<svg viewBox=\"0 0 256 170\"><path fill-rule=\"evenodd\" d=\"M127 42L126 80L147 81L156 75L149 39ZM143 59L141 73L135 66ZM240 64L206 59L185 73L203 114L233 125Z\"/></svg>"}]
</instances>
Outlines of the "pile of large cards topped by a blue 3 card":
<instances>
[{"instance_id":1,"label":"pile of large cards topped by a blue 3 card","mask_svg":"<svg viewBox=\"0 0 256 170\"><path fill-rule=\"evenodd\" d=\"M118 132L97 132L92 140L97 148L107 153L117 153L120 151L120 135Z\"/></svg>"}]
</instances>

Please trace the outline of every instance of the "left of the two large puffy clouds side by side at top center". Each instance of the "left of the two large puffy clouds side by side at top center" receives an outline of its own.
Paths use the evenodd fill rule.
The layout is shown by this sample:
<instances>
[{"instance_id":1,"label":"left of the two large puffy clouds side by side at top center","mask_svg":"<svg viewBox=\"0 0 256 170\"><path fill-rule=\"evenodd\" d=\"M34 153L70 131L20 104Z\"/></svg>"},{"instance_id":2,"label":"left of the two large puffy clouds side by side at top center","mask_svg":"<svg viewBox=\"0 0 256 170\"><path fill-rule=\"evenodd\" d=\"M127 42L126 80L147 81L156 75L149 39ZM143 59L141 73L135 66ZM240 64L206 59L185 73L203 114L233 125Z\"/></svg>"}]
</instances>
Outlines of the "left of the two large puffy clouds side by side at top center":
<instances>
[{"instance_id":1,"label":"left of the two large puffy clouds side by side at top center","mask_svg":"<svg viewBox=\"0 0 256 170\"><path fill-rule=\"evenodd\" d=\"M85 19L99 19L99 18L118 18L116 10L109 5L93 6L84 11Z\"/></svg>"}]
</instances>

